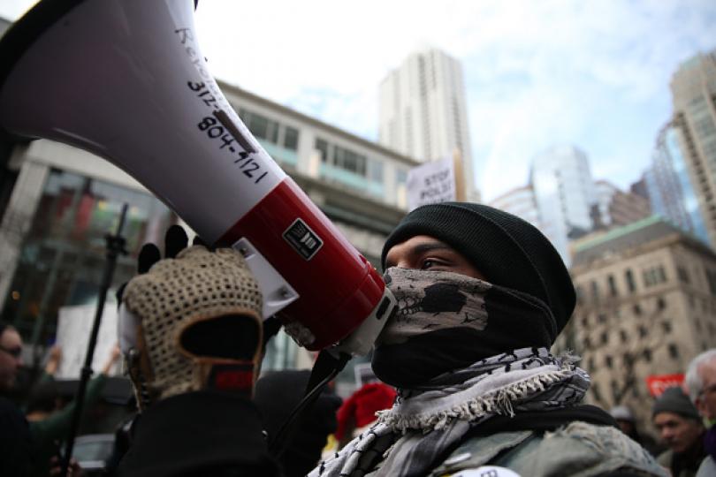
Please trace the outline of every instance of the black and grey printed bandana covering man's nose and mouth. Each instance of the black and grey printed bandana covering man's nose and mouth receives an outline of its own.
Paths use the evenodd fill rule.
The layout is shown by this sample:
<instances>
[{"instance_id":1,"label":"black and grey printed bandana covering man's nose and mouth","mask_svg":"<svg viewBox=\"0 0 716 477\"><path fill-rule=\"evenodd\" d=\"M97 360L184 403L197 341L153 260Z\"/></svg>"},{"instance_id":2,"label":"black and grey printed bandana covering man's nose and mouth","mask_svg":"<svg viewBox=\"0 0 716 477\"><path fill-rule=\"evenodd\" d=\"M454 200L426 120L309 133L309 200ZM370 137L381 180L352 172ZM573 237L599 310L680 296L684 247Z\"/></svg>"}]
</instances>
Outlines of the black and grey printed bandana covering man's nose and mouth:
<instances>
[{"instance_id":1,"label":"black and grey printed bandana covering man's nose and mouth","mask_svg":"<svg viewBox=\"0 0 716 477\"><path fill-rule=\"evenodd\" d=\"M515 273L519 273L515 271ZM377 377L402 389L557 334L545 303L527 293L446 271L388 269L398 310L377 338Z\"/></svg>"}]
</instances>

